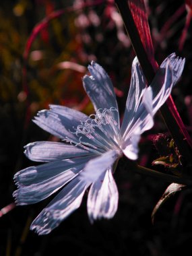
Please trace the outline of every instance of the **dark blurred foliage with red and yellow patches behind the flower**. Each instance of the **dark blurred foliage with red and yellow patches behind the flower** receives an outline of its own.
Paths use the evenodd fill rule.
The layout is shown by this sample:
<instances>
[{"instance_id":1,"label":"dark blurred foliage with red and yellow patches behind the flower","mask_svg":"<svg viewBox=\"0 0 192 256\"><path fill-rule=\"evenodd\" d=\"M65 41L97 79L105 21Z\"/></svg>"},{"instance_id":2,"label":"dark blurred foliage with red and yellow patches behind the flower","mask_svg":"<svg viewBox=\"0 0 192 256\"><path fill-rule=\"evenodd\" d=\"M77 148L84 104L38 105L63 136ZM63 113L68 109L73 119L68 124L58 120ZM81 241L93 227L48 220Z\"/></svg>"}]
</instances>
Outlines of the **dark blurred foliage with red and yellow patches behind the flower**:
<instances>
[{"instance_id":1,"label":"dark blurred foliage with red and yellow patches behind the flower","mask_svg":"<svg viewBox=\"0 0 192 256\"><path fill-rule=\"evenodd\" d=\"M113 0L78 11L66 9L40 30L27 61L24 60L30 35L44 18L68 6L76 8L95 2L7 0L0 3L0 209L13 201L13 174L36 164L25 158L23 146L32 141L56 139L30 121L36 112L48 108L49 104L62 104L88 115L92 113L82 87L82 76L90 61L98 61L108 71L123 115L134 53ZM189 7L186 9L184 0L145 2L158 63L172 52L186 58L183 77L172 96L191 133L191 22L186 26L187 15L191 15ZM160 116L141 140L140 164L150 166L159 157L151 136L158 132L167 132ZM157 168L163 170L162 166ZM167 183L135 174L129 170L125 158L119 162L115 179L120 195L119 210L113 220L91 225L85 199L82 207L59 228L40 237L29 231L30 222L50 199L16 207L0 219L0 255L68 255L69 250L76 255L166 256L181 251L185 255L192 238L188 225L191 194L178 195L164 203L152 226L150 214Z\"/></svg>"}]
</instances>

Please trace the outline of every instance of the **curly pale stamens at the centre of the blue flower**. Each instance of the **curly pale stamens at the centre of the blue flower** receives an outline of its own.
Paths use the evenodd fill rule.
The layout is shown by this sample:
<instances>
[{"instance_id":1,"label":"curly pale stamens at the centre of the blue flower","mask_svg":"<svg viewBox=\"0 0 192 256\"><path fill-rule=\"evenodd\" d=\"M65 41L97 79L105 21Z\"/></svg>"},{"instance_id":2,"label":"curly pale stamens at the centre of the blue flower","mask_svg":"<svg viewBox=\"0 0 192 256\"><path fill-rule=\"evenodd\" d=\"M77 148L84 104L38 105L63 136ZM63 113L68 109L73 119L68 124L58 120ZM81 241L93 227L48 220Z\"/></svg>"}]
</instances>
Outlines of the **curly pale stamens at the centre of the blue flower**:
<instances>
[{"instance_id":1,"label":"curly pale stamens at the centre of the blue flower","mask_svg":"<svg viewBox=\"0 0 192 256\"><path fill-rule=\"evenodd\" d=\"M90 115L86 121L81 121L72 132L77 136L78 142L71 140L69 142L97 154L108 150L121 150L121 135L119 124L115 120L117 114L115 112L118 110L114 107L98 109L96 114Z\"/></svg>"}]
</instances>

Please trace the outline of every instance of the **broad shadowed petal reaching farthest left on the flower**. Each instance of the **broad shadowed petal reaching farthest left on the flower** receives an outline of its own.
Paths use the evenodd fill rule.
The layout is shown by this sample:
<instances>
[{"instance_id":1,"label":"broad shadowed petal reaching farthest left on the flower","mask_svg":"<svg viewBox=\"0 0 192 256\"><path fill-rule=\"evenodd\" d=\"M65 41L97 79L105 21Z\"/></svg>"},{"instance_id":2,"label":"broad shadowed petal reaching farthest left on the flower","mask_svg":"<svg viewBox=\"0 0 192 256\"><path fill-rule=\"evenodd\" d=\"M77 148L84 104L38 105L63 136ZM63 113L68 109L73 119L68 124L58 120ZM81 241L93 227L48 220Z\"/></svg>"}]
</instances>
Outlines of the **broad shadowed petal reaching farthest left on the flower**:
<instances>
[{"instance_id":1,"label":"broad shadowed petal reaching farthest left on the flower","mask_svg":"<svg viewBox=\"0 0 192 256\"><path fill-rule=\"evenodd\" d=\"M14 177L18 185L13 193L16 203L26 205L49 197L73 179L90 159L66 159L20 170Z\"/></svg>"}]
</instances>

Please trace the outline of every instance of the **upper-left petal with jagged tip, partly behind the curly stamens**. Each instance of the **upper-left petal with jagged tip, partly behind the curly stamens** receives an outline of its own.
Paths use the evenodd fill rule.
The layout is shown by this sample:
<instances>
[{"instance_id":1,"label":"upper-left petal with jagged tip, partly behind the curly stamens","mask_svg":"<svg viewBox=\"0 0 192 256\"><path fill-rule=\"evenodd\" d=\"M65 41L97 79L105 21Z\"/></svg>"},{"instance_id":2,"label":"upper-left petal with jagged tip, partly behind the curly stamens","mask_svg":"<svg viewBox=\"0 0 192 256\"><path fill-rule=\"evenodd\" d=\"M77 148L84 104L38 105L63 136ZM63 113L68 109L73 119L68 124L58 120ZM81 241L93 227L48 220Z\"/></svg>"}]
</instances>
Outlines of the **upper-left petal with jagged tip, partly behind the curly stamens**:
<instances>
[{"instance_id":1,"label":"upper-left petal with jagged tip, partly behind the curly stamens","mask_svg":"<svg viewBox=\"0 0 192 256\"><path fill-rule=\"evenodd\" d=\"M50 105L50 110L41 110L34 123L49 133L76 145L81 144L92 152L97 152L98 142L90 139L84 133L77 133L77 127L82 127L90 119L83 113L66 106Z\"/></svg>"}]
</instances>

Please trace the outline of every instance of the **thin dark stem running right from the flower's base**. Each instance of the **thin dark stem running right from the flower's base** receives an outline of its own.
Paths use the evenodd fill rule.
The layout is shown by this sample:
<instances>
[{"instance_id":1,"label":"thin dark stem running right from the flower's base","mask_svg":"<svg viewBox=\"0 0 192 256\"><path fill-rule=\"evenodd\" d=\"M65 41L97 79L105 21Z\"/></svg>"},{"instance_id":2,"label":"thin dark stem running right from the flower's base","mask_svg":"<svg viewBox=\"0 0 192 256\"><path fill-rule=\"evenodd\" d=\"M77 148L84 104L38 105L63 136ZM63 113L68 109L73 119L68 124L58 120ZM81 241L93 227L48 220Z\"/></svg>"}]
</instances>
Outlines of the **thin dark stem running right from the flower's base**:
<instances>
[{"instance_id":1,"label":"thin dark stem running right from the flower's base","mask_svg":"<svg viewBox=\"0 0 192 256\"><path fill-rule=\"evenodd\" d=\"M168 183L177 183L183 185L192 185L192 179L190 177L178 177L171 174L166 174L163 172L158 172L157 170L152 170L143 166L136 165L135 171L139 174L146 174L150 177L155 177L167 181Z\"/></svg>"}]
</instances>

